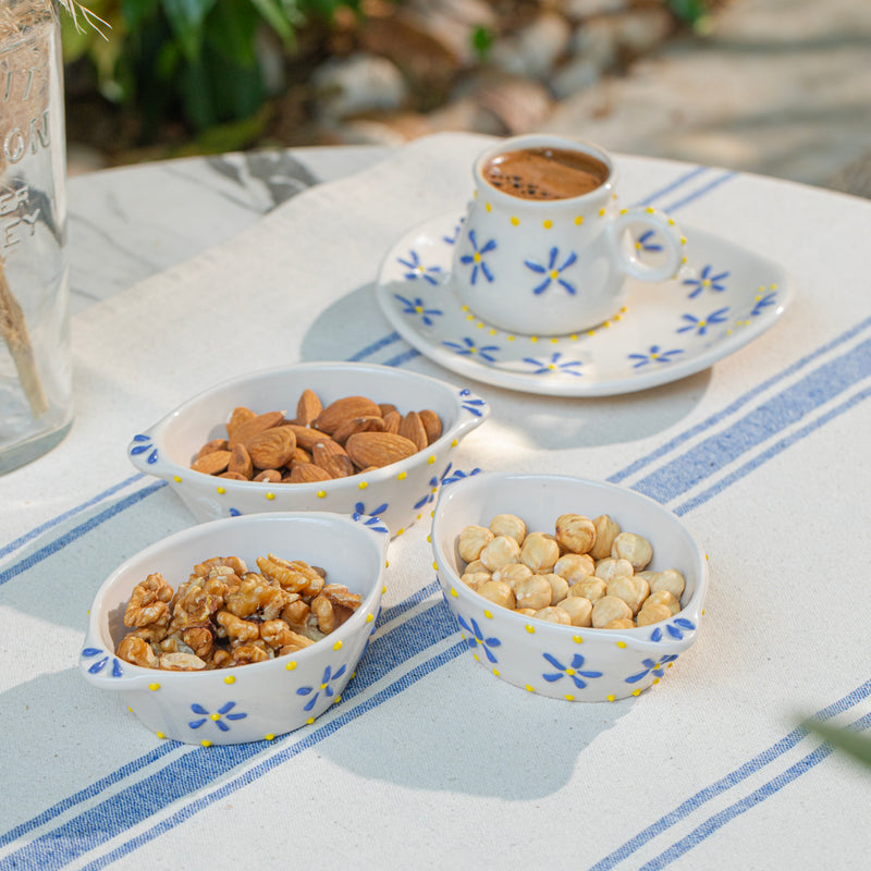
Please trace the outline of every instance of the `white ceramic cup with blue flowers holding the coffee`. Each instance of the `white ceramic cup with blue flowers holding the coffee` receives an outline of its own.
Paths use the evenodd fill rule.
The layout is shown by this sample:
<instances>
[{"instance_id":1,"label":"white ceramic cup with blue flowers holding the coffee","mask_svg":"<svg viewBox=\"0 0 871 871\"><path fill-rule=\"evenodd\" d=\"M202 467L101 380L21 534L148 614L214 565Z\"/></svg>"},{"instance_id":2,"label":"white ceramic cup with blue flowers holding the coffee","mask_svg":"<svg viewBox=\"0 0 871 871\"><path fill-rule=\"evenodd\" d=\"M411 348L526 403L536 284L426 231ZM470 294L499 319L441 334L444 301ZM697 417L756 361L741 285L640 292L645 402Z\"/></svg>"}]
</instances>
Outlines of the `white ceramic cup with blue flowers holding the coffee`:
<instances>
[{"instance_id":1,"label":"white ceramic cup with blue flowers holding the coffee","mask_svg":"<svg viewBox=\"0 0 871 871\"><path fill-rule=\"evenodd\" d=\"M515 196L487 181L507 152L564 149L604 164L589 193L557 199ZM475 195L457 237L452 283L481 320L510 332L561 334L611 318L626 302L626 277L660 282L684 261L684 238L666 214L621 209L616 170L603 148L545 134L503 139L475 162Z\"/></svg>"}]
</instances>

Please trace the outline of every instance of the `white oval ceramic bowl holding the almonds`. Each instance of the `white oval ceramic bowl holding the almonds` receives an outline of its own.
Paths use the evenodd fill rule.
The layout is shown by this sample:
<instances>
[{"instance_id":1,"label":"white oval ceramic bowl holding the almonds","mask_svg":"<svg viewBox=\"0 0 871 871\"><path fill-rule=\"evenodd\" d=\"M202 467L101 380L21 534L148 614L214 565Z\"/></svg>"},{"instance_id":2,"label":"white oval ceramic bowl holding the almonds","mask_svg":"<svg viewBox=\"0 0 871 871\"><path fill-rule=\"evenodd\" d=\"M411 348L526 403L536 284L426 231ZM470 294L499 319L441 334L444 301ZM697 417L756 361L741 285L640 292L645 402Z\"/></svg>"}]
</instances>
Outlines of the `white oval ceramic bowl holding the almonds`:
<instances>
[{"instance_id":1,"label":"white oval ceramic bowl holding the almonds","mask_svg":"<svg viewBox=\"0 0 871 871\"><path fill-rule=\"evenodd\" d=\"M403 414L431 409L441 418L441 438L398 463L329 481L269 484L191 469L204 444L226 437L234 407L257 414L286 410L293 418L306 389L324 406L360 395L392 403ZM395 537L431 511L455 449L488 415L487 403L470 390L417 372L369 364L299 363L243 375L194 396L134 436L127 455L140 471L165 480L200 522L273 511L339 512L378 516Z\"/></svg>"}]
</instances>

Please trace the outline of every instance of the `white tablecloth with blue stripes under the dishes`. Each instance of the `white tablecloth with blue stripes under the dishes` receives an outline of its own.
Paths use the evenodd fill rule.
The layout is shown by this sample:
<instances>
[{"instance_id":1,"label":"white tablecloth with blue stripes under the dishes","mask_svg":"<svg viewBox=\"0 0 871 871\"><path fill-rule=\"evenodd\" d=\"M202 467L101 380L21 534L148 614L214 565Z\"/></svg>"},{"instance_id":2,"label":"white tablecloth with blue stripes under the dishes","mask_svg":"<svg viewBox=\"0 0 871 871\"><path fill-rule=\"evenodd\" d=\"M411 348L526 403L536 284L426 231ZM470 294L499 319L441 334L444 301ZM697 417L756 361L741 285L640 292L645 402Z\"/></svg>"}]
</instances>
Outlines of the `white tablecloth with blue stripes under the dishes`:
<instances>
[{"instance_id":1,"label":"white tablecloth with blue stripes under the dishes","mask_svg":"<svg viewBox=\"0 0 871 871\"><path fill-rule=\"evenodd\" d=\"M858 199L619 158L628 201L783 263L790 310L711 370L646 393L468 383L492 417L458 467L655 484L703 543L700 640L661 686L585 706L493 679L459 653L422 523L391 545L378 668L309 728L171 745L81 678L97 587L192 522L134 475L133 433L285 361L360 356L463 383L381 343L372 282L404 230L462 209L486 143L419 140L75 318L73 430L0 478L0 870L864 867L870 775L797 731L813 713L871 723L871 206Z\"/></svg>"}]
</instances>

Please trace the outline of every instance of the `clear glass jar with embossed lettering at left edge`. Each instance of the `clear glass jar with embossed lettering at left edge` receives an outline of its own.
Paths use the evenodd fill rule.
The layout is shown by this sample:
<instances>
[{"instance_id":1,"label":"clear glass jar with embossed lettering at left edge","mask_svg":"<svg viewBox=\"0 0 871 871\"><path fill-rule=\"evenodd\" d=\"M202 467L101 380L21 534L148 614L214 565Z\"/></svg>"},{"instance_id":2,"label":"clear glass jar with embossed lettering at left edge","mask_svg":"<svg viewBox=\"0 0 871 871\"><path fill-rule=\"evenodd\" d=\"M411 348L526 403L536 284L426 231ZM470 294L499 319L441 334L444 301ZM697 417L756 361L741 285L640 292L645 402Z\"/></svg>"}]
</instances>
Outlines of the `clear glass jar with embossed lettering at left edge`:
<instances>
[{"instance_id":1,"label":"clear glass jar with embossed lettering at left edge","mask_svg":"<svg viewBox=\"0 0 871 871\"><path fill-rule=\"evenodd\" d=\"M52 0L0 7L0 473L72 426L66 145Z\"/></svg>"}]
</instances>

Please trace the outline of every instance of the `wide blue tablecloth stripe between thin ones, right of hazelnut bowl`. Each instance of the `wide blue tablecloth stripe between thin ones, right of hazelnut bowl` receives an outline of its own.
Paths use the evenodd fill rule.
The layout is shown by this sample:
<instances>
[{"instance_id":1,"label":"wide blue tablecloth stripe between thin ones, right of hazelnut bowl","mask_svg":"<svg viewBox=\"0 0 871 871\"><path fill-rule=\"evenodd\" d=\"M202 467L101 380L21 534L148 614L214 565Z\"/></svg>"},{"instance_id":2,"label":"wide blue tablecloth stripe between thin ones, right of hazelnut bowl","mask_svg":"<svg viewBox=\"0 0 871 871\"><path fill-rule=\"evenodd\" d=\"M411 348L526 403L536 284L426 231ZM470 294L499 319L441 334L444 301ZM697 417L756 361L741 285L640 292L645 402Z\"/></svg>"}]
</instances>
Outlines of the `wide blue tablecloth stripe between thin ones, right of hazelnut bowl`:
<instances>
[{"instance_id":1,"label":"wide blue tablecloth stripe between thin ones, right of hazelnut bowl","mask_svg":"<svg viewBox=\"0 0 871 871\"><path fill-rule=\"evenodd\" d=\"M663 504L758 447L773 434L871 375L871 340L808 372L781 393L766 400L728 428L691 447L685 454L633 484L633 490Z\"/></svg>"}]
</instances>

